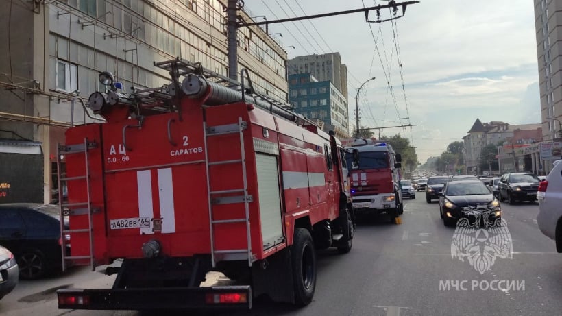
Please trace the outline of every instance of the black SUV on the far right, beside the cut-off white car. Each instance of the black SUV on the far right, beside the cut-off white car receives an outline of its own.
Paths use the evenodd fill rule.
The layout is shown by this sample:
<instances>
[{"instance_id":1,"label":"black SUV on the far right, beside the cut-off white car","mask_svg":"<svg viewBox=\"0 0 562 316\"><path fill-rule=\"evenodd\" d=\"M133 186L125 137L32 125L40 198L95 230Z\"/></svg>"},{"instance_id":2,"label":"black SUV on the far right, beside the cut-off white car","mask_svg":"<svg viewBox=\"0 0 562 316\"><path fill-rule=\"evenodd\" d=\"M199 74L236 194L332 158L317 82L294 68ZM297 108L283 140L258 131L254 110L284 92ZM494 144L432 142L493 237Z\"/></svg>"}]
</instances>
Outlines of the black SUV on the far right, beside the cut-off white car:
<instances>
[{"instance_id":1,"label":"black SUV on the far right, beside the cut-off white car","mask_svg":"<svg viewBox=\"0 0 562 316\"><path fill-rule=\"evenodd\" d=\"M528 172L509 172L502 175L498 182L500 201L507 200L509 204L518 201L534 202L537 200L541 180L537 175Z\"/></svg>"}]
</instances>

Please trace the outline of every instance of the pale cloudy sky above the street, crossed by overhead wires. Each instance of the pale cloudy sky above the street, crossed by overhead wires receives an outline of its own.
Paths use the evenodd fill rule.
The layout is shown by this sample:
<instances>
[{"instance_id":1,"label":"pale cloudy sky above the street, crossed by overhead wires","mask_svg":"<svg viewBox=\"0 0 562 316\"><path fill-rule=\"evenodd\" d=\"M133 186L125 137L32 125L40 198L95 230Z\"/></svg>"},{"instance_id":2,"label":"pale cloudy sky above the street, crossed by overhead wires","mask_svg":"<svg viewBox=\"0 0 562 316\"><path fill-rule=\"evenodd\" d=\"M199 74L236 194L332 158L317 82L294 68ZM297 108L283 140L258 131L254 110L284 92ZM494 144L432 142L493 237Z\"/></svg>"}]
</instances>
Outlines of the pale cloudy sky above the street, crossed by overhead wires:
<instances>
[{"instance_id":1,"label":"pale cloudy sky above the street, crossed by overhead wires","mask_svg":"<svg viewBox=\"0 0 562 316\"><path fill-rule=\"evenodd\" d=\"M268 21L388 3L244 2L244 10ZM389 17L389 9L380 11L380 19ZM371 11L369 20L375 19L376 11ZM341 54L348 71L350 126L355 125L357 88L376 77L358 95L360 125L415 125L382 134L410 139L422 163L440 156L448 144L462 141L476 119L541 123L532 0L420 0L394 21L367 23L361 12L269 25L270 34L278 32L282 36L272 37L282 46L295 47L286 47L289 59Z\"/></svg>"}]
</instances>

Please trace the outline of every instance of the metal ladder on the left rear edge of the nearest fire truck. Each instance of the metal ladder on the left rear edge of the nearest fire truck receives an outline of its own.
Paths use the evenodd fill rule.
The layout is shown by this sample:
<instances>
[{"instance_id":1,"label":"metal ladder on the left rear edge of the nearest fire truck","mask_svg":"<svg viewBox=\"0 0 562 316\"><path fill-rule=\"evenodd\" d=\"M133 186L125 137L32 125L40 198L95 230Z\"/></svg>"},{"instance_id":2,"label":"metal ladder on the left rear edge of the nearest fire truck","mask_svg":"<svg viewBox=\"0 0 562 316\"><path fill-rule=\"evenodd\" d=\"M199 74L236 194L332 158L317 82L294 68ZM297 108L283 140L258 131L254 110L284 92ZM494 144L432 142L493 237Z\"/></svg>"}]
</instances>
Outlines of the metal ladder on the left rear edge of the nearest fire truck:
<instances>
[{"instance_id":1,"label":"metal ladder on the left rear edge of the nearest fire truck","mask_svg":"<svg viewBox=\"0 0 562 316\"><path fill-rule=\"evenodd\" d=\"M97 144L88 142L88 138L84 138L84 143L76 145L58 145L57 152L57 173L58 173L58 203L60 206L60 231L61 231L61 253L62 253L62 271L66 269L66 260L84 260L89 259L92 271L95 270L94 264L94 239L92 229L92 215L95 209L92 207L90 201L90 173L88 171L88 149L96 147ZM66 177L66 172L61 169L61 155L70 154L84 154L84 162L86 164L86 175L78 175L74 177ZM86 202L69 203L68 200L63 199L63 186L69 181L86 180ZM72 208L72 209L69 209ZM88 214L88 228L69 229L64 227L64 217L72 215ZM90 239L90 255L89 256L66 256L66 235L71 233L88 233Z\"/></svg>"}]
</instances>

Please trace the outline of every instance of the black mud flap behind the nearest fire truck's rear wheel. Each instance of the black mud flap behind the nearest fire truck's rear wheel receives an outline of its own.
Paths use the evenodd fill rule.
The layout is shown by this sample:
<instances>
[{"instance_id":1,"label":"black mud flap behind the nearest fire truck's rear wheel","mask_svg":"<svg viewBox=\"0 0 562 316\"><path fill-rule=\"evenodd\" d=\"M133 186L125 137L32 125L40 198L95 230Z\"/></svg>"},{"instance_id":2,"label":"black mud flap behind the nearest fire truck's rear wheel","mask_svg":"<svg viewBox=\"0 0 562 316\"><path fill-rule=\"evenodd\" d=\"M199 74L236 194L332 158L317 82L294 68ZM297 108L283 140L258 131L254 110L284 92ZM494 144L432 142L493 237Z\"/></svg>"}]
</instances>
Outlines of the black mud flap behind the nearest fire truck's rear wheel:
<instances>
[{"instance_id":1,"label":"black mud flap behind the nearest fire truck's rear wheel","mask_svg":"<svg viewBox=\"0 0 562 316\"><path fill-rule=\"evenodd\" d=\"M254 297L265 294L275 302L295 304L294 288L289 248L252 265Z\"/></svg>"}]
</instances>

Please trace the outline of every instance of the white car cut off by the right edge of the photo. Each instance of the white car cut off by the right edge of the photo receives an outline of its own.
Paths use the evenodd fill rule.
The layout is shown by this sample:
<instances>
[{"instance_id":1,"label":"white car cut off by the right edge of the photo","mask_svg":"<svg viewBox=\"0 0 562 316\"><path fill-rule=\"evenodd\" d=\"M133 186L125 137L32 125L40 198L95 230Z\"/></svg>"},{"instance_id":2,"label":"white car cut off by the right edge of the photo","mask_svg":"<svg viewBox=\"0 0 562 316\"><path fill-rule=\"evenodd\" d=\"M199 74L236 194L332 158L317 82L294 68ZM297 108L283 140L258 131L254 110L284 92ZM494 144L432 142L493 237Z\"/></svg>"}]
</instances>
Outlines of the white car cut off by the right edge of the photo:
<instances>
[{"instance_id":1,"label":"white car cut off by the right edge of the photo","mask_svg":"<svg viewBox=\"0 0 562 316\"><path fill-rule=\"evenodd\" d=\"M539 229L556 241L556 250L560 253L562 253L562 163L559 163L561 161L554 162L554 168L548 173L546 180L540 182L537 192Z\"/></svg>"}]
</instances>

